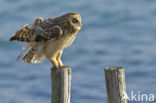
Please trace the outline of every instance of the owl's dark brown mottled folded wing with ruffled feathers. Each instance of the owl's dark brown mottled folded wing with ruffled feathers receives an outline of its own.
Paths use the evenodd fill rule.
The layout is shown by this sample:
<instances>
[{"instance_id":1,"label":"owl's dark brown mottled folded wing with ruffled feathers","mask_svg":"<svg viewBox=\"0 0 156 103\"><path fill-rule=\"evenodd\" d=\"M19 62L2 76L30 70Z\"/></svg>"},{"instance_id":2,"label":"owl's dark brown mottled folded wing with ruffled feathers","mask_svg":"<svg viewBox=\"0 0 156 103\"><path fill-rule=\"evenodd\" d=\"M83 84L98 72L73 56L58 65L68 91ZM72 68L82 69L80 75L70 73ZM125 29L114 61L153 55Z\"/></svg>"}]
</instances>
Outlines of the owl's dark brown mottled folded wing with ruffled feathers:
<instances>
[{"instance_id":1,"label":"owl's dark brown mottled folded wing with ruffled feathers","mask_svg":"<svg viewBox=\"0 0 156 103\"><path fill-rule=\"evenodd\" d=\"M37 18L33 25L27 24L9 39L9 41L23 41L23 42L46 42L50 39L57 39L63 34L59 26L52 26Z\"/></svg>"}]
</instances>

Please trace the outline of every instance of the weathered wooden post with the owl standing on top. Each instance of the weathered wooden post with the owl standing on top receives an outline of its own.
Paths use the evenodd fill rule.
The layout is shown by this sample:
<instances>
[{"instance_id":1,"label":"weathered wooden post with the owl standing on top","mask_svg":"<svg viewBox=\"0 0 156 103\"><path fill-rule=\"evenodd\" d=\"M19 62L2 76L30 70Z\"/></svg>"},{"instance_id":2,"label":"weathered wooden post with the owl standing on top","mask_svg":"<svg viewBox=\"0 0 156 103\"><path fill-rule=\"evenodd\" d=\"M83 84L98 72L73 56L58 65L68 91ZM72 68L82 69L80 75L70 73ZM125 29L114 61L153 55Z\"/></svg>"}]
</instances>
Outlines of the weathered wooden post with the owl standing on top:
<instances>
[{"instance_id":1,"label":"weathered wooden post with the owl standing on top","mask_svg":"<svg viewBox=\"0 0 156 103\"><path fill-rule=\"evenodd\" d=\"M62 66L51 68L51 103L70 103L71 68Z\"/></svg>"}]
</instances>

